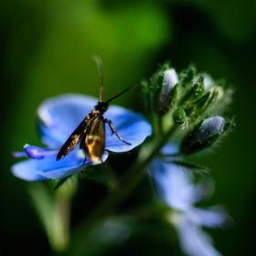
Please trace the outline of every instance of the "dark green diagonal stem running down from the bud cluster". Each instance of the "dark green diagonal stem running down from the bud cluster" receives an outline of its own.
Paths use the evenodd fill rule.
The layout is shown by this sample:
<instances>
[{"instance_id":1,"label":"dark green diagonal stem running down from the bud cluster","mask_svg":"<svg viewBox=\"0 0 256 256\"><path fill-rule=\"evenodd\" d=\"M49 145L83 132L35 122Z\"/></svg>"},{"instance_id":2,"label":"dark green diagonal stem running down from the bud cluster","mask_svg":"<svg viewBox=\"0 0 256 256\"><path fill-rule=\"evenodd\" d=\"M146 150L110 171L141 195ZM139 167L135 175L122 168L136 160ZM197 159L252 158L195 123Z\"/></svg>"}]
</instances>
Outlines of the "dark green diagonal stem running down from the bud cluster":
<instances>
[{"instance_id":1,"label":"dark green diagonal stem running down from the bud cluster","mask_svg":"<svg viewBox=\"0 0 256 256\"><path fill-rule=\"evenodd\" d=\"M166 144L170 136L176 131L178 125L173 125L173 127L163 134L163 136L152 143L151 148L143 147L142 156L138 158L123 175L121 179L121 188L113 190L109 195L107 195L101 203L92 210L91 214L86 218L82 219L75 231L72 234L72 240L69 246L69 250L65 252L66 255L80 255L80 252L84 250L81 248L83 245L83 240L86 234L93 228L93 225L97 220L103 221L108 217L117 206L130 195L133 188L137 186L139 181L144 176L144 169L151 161L155 158L155 155L159 154L161 148ZM146 152L144 152L146 151Z\"/></svg>"}]
</instances>

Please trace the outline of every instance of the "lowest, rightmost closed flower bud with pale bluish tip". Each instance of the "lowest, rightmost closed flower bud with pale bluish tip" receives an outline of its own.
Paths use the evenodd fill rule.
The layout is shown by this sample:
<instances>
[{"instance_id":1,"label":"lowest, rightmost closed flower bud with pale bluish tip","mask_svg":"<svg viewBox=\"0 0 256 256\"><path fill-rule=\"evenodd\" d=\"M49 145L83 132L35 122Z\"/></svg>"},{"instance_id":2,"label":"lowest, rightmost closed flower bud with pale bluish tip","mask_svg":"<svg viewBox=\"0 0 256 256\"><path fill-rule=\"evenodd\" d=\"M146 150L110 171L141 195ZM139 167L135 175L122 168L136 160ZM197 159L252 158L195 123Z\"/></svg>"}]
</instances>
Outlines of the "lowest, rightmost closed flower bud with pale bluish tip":
<instances>
[{"instance_id":1,"label":"lowest, rightmost closed flower bud with pale bluish tip","mask_svg":"<svg viewBox=\"0 0 256 256\"><path fill-rule=\"evenodd\" d=\"M223 132L224 123L224 118L218 115L197 123L194 130L184 138L181 153L191 155L212 146Z\"/></svg>"}]
</instances>

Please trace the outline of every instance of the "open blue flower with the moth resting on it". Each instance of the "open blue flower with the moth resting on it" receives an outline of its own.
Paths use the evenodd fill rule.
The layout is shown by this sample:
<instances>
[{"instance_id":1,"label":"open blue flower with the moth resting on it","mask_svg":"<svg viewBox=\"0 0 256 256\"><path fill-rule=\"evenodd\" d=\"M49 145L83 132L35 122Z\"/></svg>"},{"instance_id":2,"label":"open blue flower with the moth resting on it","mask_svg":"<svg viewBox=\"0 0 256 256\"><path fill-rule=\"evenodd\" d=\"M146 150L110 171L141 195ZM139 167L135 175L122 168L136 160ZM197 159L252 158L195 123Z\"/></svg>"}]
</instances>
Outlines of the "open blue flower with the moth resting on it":
<instances>
[{"instance_id":1,"label":"open blue flower with the moth resting on it","mask_svg":"<svg viewBox=\"0 0 256 256\"><path fill-rule=\"evenodd\" d=\"M80 172L87 165L101 164L86 160L85 155L76 146L69 155L57 161L56 156L62 144L80 124L85 116L94 109L97 99L80 94L64 94L44 101L37 109L37 128L46 148L26 144L25 152L16 152L15 157L27 156L30 159L16 163L12 173L28 181L59 179ZM108 157L108 151L121 153L132 150L142 144L151 135L152 128L144 117L119 106L110 106L104 117L111 120L117 133L123 137L124 144L114 134L109 125L106 127L106 145L102 160Z\"/></svg>"}]
</instances>

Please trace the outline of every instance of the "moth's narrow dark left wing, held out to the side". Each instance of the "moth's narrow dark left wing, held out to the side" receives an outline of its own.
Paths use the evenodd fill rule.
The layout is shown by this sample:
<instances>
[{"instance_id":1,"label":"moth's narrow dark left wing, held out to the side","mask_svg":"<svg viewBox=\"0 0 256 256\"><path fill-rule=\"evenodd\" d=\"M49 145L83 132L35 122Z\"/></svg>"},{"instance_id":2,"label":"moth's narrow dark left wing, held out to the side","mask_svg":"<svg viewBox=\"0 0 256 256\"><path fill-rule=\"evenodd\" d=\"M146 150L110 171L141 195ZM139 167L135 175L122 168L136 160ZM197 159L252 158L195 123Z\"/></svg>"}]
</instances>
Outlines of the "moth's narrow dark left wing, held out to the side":
<instances>
[{"instance_id":1,"label":"moth's narrow dark left wing, held out to the side","mask_svg":"<svg viewBox=\"0 0 256 256\"><path fill-rule=\"evenodd\" d=\"M76 128L76 130L69 136L69 139L62 145L57 155L57 160L68 155L69 152L76 146L80 140L80 136L86 133L88 125L90 123L90 116L88 115Z\"/></svg>"}]
</instances>

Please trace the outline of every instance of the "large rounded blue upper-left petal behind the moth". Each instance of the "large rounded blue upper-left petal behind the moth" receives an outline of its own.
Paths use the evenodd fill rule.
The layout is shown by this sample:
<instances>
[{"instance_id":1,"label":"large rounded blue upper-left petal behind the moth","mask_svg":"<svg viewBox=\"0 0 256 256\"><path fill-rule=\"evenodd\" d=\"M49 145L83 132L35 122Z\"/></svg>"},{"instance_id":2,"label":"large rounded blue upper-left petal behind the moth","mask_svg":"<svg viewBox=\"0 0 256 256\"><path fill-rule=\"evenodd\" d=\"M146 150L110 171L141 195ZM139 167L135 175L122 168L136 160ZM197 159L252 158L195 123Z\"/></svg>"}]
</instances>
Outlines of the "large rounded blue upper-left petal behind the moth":
<instances>
[{"instance_id":1,"label":"large rounded blue upper-left petal behind the moth","mask_svg":"<svg viewBox=\"0 0 256 256\"><path fill-rule=\"evenodd\" d=\"M37 110L37 126L42 141L51 148L64 144L97 101L80 94L63 94L44 101Z\"/></svg>"}]
</instances>

